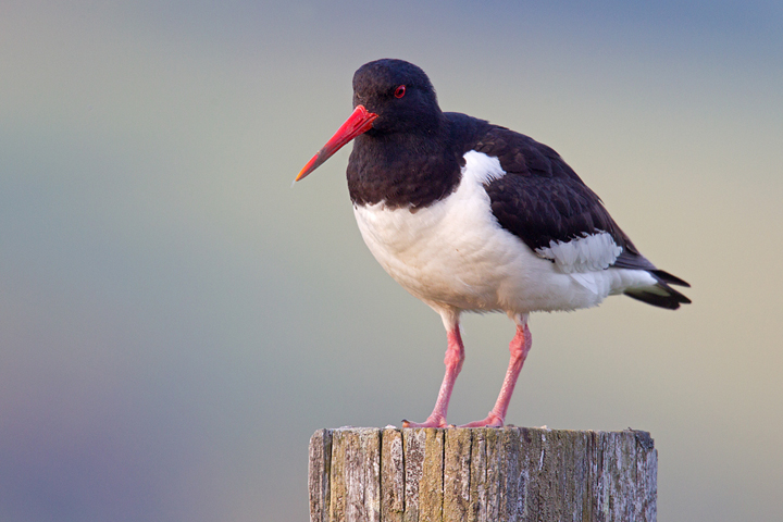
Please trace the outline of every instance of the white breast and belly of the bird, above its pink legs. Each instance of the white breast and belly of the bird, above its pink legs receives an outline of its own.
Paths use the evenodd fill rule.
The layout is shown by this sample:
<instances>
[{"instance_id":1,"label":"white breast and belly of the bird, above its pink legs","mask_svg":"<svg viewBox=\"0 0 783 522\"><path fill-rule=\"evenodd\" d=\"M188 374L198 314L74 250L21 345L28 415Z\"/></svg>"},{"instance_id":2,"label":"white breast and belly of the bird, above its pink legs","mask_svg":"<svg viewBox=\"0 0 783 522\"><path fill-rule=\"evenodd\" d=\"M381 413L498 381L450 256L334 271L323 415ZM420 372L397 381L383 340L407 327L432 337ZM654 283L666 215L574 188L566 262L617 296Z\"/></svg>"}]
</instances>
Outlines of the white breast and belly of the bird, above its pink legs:
<instances>
[{"instance_id":1,"label":"white breast and belly of the bird, above its pink legs","mask_svg":"<svg viewBox=\"0 0 783 522\"><path fill-rule=\"evenodd\" d=\"M655 283L643 271L600 270L584 262L567 273L560 263L539 257L557 258L560 246L536 256L498 224L489 208L484 184L505 175L500 162L475 151L464 159L457 190L430 207L355 207L370 251L413 296L438 311L527 313L591 307L629 284Z\"/></svg>"}]
</instances>

